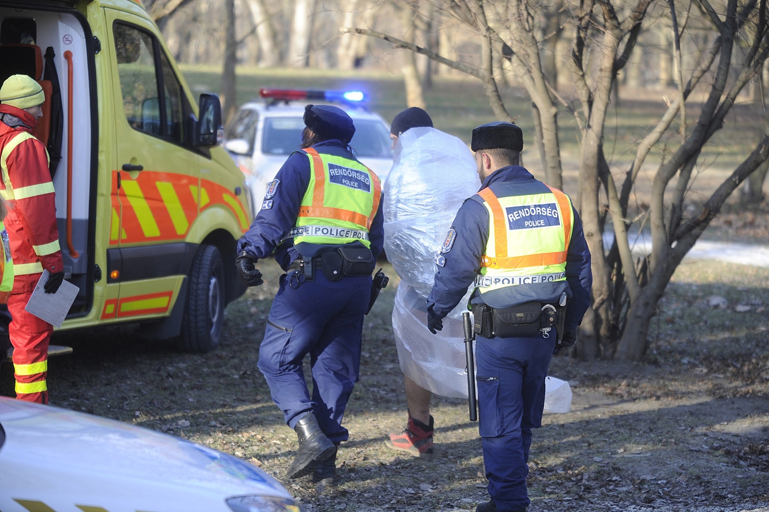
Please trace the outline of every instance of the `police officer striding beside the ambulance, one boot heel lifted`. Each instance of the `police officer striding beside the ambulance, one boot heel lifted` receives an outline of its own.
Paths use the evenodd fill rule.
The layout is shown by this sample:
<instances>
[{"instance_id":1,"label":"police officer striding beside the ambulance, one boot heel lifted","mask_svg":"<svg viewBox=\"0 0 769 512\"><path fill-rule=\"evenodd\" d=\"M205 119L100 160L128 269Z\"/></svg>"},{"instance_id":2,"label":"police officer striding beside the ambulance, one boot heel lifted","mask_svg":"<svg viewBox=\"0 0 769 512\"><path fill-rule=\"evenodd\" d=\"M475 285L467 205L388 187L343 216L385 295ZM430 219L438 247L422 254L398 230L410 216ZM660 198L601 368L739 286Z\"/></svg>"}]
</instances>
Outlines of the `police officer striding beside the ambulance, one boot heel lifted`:
<instances>
[{"instance_id":1,"label":"police officer striding beside the ambulance, one boot heel lifted","mask_svg":"<svg viewBox=\"0 0 769 512\"><path fill-rule=\"evenodd\" d=\"M348 144L352 119L338 107L308 105L301 150L268 185L251 229L238 242L238 272L261 284L257 259L275 254L286 271L259 348L259 369L294 428L299 451L289 478L335 484L341 426L361 360L363 316L384 230L379 178ZM311 356L312 394L301 369Z\"/></svg>"}]
</instances>

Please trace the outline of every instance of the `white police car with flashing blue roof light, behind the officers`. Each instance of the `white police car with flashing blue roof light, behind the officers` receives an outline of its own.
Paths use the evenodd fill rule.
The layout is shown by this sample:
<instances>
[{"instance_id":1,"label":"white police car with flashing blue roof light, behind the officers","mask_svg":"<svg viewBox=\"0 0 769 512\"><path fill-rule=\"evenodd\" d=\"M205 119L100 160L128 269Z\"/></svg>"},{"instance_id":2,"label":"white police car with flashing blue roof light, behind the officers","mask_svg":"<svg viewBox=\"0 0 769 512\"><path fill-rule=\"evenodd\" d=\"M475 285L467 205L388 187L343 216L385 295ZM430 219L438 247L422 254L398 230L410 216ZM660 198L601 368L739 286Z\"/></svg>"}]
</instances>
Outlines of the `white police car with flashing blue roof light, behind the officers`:
<instances>
[{"instance_id":1,"label":"white police car with flashing blue roof light, behind the officers","mask_svg":"<svg viewBox=\"0 0 769 512\"><path fill-rule=\"evenodd\" d=\"M365 108L365 93L262 88L259 95L262 100L242 105L225 130L225 149L245 174L254 204L261 204L268 183L299 149L306 104L337 104L352 117L350 147L384 183L392 167L390 125Z\"/></svg>"}]
</instances>

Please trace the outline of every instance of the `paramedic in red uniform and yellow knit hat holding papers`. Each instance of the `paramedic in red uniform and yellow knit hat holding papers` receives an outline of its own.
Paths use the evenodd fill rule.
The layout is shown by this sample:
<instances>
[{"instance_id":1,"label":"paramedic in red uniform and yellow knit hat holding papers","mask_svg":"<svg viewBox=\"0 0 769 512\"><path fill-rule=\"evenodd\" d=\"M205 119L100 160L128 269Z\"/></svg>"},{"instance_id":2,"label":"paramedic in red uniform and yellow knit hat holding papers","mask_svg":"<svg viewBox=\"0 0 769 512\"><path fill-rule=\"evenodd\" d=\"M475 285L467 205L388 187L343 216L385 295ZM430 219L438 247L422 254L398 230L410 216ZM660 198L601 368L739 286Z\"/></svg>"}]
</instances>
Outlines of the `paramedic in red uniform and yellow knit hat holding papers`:
<instances>
[{"instance_id":1,"label":"paramedic in red uniform and yellow knit hat holding papers","mask_svg":"<svg viewBox=\"0 0 769 512\"><path fill-rule=\"evenodd\" d=\"M24 310L43 269L51 273L46 293L55 293L64 279L48 153L32 134L44 101L40 85L25 74L13 75L0 88L0 196L8 203L5 228L15 270L8 333L14 347L16 398L47 404L53 326Z\"/></svg>"}]
</instances>

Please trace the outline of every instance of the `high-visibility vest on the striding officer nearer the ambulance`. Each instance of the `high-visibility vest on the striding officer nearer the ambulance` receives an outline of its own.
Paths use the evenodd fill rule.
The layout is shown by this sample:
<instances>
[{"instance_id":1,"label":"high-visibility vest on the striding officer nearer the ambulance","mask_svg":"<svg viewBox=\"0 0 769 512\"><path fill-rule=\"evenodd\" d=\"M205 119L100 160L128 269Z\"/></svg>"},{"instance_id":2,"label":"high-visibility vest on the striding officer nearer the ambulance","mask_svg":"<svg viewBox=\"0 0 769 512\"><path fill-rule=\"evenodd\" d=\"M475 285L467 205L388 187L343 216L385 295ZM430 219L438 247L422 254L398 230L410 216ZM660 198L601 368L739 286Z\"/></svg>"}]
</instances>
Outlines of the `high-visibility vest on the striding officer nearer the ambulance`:
<instances>
[{"instance_id":1,"label":"high-visibility vest on the striding officer nearer the ambulance","mask_svg":"<svg viewBox=\"0 0 769 512\"><path fill-rule=\"evenodd\" d=\"M299 206L296 225L288 234L294 243L370 247L368 230L379 208L381 183L357 160L304 150L310 159L310 183Z\"/></svg>"}]
</instances>

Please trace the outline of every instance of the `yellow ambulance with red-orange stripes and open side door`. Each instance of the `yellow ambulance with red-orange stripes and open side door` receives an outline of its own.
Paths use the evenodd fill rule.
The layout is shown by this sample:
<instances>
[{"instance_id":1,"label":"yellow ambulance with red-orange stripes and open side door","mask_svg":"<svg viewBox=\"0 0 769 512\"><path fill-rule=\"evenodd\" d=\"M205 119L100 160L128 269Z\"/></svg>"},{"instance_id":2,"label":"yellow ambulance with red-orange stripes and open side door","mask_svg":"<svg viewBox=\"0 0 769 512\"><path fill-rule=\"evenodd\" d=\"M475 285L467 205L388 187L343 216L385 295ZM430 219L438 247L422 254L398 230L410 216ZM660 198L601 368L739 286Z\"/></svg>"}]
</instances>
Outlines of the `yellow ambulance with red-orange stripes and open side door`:
<instances>
[{"instance_id":1,"label":"yellow ambulance with red-orange stripes and open side door","mask_svg":"<svg viewBox=\"0 0 769 512\"><path fill-rule=\"evenodd\" d=\"M66 279L80 289L62 330L141 323L179 348L218 345L245 286L235 241L251 220L224 149L221 106L196 105L141 2L0 2L0 83L45 91L37 135L51 157Z\"/></svg>"}]
</instances>

